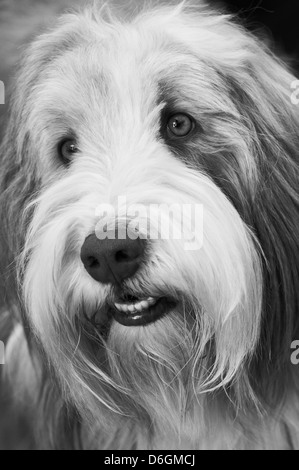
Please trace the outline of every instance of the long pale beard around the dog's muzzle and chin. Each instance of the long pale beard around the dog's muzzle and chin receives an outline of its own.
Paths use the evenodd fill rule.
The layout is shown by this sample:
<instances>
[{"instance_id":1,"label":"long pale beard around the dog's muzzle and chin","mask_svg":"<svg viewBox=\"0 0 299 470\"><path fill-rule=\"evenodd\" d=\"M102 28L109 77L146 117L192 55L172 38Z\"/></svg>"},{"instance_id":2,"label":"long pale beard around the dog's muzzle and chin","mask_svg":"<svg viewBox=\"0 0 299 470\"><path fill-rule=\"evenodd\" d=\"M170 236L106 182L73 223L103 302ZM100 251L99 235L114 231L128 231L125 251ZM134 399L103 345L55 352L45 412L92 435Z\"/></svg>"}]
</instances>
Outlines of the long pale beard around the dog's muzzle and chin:
<instances>
[{"instance_id":1,"label":"long pale beard around the dog's muzzle and chin","mask_svg":"<svg viewBox=\"0 0 299 470\"><path fill-rule=\"evenodd\" d=\"M29 320L66 399L103 426L105 416L107 426L112 416L118 422L123 416L146 429L183 433L205 392L229 385L258 339L258 245L216 185L179 166L180 180L173 170L166 189L145 188L144 194L200 201L203 246L186 251L183 240L150 242L149 259L124 288L137 298L165 296L175 307L144 327L111 318L113 289L89 278L80 261L101 198L91 191L92 182L99 186L95 173L87 186L79 170L36 202L20 263ZM180 193L182 181L188 190ZM66 185L77 188L76 199L64 199Z\"/></svg>"}]
</instances>

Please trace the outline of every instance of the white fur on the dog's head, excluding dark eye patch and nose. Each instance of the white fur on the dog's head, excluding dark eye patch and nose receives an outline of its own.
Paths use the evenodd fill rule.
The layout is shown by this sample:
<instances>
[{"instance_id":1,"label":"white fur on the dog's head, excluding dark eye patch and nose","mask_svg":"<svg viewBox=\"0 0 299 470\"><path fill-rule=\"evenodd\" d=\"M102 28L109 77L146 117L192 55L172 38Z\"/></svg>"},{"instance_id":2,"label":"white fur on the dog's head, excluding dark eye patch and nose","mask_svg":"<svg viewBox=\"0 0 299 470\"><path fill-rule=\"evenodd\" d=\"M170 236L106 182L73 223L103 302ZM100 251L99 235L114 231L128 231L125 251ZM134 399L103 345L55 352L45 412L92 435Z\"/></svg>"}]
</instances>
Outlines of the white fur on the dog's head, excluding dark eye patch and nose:
<instances>
[{"instance_id":1,"label":"white fur on the dog's head, excluding dark eye patch and nose","mask_svg":"<svg viewBox=\"0 0 299 470\"><path fill-rule=\"evenodd\" d=\"M189 15L183 4L142 13L131 23L109 23L101 15L94 8L65 16L30 50L37 66L45 49L54 57L30 89L17 143L21 149L30 131L41 180L40 193L25 208L34 212L19 258L29 324L63 400L83 416L86 447L283 447L276 416L258 421L248 436L225 403L225 387L238 382L260 338L262 248L213 179L157 138L165 106L157 99L161 81L175 90L176 107L199 121L213 113L239 119L228 85L211 64L223 73L236 67L242 81L256 54L254 39L225 16L204 9ZM29 74L30 67L33 62ZM277 93L284 94L280 83ZM258 169L241 118L239 126L216 125L238 149L234 157L253 194ZM80 152L65 169L55 144L69 129L79 136ZM203 246L186 251L184 240L150 243L147 264L126 285L140 295L174 296L178 306L146 327L113 323L107 338L97 338L91 359L81 341L82 312L88 318L98 312L104 322L99 312L110 288L88 275L80 249L98 221L97 206L116 206L118 196L146 206L202 204ZM207 404L212 392L223 396Z\"/></svg>"}]
</instances>

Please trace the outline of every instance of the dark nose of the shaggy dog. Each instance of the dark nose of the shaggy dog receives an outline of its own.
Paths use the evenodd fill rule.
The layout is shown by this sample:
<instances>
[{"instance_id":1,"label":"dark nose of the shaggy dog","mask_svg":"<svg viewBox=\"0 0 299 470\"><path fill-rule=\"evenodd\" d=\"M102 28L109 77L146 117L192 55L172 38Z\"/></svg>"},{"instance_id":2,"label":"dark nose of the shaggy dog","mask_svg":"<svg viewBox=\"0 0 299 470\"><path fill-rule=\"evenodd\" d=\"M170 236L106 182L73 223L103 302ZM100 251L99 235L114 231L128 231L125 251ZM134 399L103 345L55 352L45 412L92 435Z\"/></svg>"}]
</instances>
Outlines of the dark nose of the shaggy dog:
<instances>
[{"instance_id":1,"label":"dark nose of the shaggy dog","mask_svg":"<svg viewBox=\"0 0 299 470\"><path fill-rule=\"evenodd\" d=\"M126 238L99 240L89 235L81 248L81 260L90 276L103 284L118 284L138 270L145 249L145 240Z\"/></svg>"}]
</instances>

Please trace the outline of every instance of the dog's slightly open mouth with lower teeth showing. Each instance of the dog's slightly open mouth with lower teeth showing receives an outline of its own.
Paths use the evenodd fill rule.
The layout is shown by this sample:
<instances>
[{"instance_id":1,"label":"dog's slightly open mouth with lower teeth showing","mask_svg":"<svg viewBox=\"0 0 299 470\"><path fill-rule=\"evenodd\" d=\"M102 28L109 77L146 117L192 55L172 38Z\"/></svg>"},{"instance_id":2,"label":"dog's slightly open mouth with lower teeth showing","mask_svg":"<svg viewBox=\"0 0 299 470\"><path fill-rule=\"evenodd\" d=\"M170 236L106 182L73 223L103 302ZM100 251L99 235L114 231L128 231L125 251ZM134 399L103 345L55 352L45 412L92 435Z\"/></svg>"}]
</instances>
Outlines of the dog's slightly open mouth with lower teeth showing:
<instances>
[{"instance_id":1,"label":"dog's slightly open mouth with lower teeth showing","mask_svg":"<svg viewBox=\"0 0 299 470\"><path fill-rule=\"evenodd\" d=\"M177 302L168 297L135 297L120 294L109 300L110 314L124 326L144 326L170 312Z\"/></svg>"}]
</instances>

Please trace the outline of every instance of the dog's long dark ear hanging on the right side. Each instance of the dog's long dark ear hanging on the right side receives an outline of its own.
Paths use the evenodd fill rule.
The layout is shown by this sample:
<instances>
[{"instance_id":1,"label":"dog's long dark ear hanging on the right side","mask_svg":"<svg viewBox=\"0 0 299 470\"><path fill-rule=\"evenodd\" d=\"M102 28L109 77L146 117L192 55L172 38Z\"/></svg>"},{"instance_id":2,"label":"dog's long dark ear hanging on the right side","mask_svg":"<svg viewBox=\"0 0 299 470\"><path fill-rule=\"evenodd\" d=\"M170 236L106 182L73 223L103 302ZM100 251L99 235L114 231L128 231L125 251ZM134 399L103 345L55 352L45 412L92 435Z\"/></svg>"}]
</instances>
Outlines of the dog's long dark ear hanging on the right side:
<instances>
[{"instance_id":1,"label":"dog's long dark ear hanging on the right side","mask_svg":"<svg viewBox=\"0 0 299 470\"><path fill-rule=\"evenodd\" d=\"M257 353L262 380L263 364L266 375L271 365L272 371L279 364L289 369L290 345L299 337L299 106L292 103L294 76L284 63L254 39L245 59L228 83L257 170L250 213L242 215L265 256Z\"/></svg>"}]
</instances>

